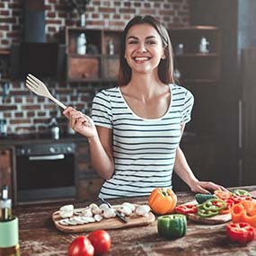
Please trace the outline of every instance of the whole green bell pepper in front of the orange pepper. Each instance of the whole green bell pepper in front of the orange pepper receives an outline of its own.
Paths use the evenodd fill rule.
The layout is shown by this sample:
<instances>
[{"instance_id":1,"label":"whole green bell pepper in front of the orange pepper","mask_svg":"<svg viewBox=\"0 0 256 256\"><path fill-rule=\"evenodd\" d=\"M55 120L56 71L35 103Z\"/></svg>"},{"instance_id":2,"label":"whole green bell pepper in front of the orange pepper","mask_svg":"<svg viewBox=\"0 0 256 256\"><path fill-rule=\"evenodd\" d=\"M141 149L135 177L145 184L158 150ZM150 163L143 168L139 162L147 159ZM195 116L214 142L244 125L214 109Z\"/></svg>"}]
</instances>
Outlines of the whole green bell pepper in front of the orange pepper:
<instances>
[{"instance_id":1,"label":"whole green bell pepper in front of the orange pepper","mask_svg":"<svg viewBox=\"0 0 256 256\"><path fill-rule=\"evenodd\" d=\"M186 216L180 214L172 214L159 216L157 219L158 234L163 237L172 239L180 238L187 232Z\"/></svg>"}]
</instances>

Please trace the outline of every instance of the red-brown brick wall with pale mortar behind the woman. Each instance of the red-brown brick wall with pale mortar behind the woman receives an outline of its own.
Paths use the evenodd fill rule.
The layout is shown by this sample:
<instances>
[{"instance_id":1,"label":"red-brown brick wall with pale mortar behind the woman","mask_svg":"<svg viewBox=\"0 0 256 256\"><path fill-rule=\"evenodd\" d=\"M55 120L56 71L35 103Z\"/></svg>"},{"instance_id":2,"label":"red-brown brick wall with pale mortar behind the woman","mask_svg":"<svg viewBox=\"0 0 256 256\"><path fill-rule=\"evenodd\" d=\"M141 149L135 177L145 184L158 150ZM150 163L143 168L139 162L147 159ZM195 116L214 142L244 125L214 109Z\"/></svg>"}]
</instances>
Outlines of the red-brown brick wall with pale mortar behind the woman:
<instances>
[{"instance_id":1,"label":"red-brown brick wall with pale mortar behind the woman","mask_svg":"<svg viewBox=\"0 0 256 256\"><path fill-rule=\"evenodd\" d=\"M36 1L36 0L35 0ZM75 25L78 15L67 8L67 0L45 0L46 34L49 41L57 41L66 25ZM14 42L22 40L22 0L1 0L0 3L0 49L10 49ZM151 14L163 24L181 26L189 24L190 0L91 0L87 6L88 28L123 29L132 17ZM1 56L0 56L1 57ZM2 56L3 59L3 56ZM90 112L90 102L102 87L110 83L66 84L49 81L51 93L66 104ZM12 82L9 95L0 91L0 119L7 120L8 133L31 133L46 130L51 116L66 126L61 111L47 99L31 94L23 82Z\"/></svg>"}]
</instances>

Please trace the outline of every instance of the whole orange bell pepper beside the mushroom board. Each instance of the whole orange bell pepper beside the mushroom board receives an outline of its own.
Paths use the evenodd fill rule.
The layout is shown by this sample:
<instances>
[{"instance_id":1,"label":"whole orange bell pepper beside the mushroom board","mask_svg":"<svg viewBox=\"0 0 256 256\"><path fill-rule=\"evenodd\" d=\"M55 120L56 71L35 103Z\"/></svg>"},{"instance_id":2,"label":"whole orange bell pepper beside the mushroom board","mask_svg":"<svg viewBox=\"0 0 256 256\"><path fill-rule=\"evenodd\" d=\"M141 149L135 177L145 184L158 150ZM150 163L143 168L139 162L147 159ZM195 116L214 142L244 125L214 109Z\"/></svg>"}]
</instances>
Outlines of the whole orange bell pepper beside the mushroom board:
<instances>
[{"instance_id":1,"label":"whole orange bell pepper beside the mushroom board","mask_svg":"<svg viewBox=\"0 0 256 256\"><path fill-rule=\"evenodd\" d=\"M148 199L148 205L154 213L163 215L172 213L177 204L177 196L172 189L156 188Z\"/></svg>"}]
</instances>

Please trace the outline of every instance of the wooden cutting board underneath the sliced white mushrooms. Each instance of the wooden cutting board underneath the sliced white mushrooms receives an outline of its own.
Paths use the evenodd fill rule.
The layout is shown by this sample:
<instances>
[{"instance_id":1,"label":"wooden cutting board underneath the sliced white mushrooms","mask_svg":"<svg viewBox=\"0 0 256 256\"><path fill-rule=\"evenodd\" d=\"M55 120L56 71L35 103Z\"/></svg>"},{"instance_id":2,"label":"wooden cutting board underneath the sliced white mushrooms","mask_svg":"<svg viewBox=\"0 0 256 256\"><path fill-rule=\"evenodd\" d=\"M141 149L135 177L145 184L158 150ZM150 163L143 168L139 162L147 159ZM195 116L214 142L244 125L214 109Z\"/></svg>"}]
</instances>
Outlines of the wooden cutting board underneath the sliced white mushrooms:
<instances>
[{"instance_id":1,"label":"wooden cutting board underneath the sliced white mushrooms","mask_svg":"<svg viewBox=\"0 0 256 256\"><path fill-rule=\"evenodd\" d=\"M154 222L155 216L152 212L148 216L137 216L132 214L128 216L128 223L123 223L118 217L102 219L100 222L87 223L84 225L60 225L58 221L61 219L59 216L59 211L52 214L52 220L59 231L66 233L79 233L79 232L89 232L97 229L118 229L127 228L132 226L149 225Z\"/></svg>"}]
</instances>

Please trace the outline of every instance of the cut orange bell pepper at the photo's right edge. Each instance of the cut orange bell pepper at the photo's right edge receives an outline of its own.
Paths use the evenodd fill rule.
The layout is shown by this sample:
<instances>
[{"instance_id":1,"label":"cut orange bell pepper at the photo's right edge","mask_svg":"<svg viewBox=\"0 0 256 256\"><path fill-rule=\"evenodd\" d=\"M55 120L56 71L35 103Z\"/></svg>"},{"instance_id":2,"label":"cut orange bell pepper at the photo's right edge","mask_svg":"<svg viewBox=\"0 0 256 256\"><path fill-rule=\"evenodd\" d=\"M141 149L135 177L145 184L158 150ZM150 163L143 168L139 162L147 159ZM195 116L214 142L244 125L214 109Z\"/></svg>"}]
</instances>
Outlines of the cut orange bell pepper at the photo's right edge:
<instances>
[{"instance_id":1,"label":"cut orange bell pepper at the photo's right edge","mask_svg":"<svg viewBox=\"0 0 256 256\"><path fill-rule=\"evenodd\" d=\"M231 208L234 223L246 222L256 227L256 202L243 200Z\"/></svg>"}]
</instances>

